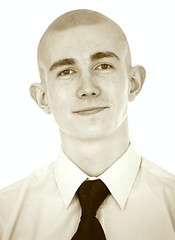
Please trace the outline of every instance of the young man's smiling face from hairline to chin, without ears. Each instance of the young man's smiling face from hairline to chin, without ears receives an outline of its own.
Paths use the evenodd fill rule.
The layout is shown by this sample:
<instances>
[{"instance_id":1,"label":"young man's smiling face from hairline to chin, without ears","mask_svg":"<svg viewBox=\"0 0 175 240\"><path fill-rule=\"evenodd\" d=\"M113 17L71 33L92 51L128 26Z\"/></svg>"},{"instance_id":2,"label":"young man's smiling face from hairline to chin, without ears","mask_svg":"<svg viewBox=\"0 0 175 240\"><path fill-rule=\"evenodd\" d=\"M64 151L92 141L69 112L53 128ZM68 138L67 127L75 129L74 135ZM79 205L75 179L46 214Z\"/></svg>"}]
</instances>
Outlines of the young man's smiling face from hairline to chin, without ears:
<instances>
[{"instance_id":1,"label":"young man's smiling face from hairline to chin, without ears","mask_svg":"<svg viewBox=\"0 0 175 240\"><path fill-rule=\"evenodd\" d=\"M128 103L121 33L105 23L53 31L45 52L46 92L60 131L81 139L114 132Z\"/></svg>"}]
</instances>

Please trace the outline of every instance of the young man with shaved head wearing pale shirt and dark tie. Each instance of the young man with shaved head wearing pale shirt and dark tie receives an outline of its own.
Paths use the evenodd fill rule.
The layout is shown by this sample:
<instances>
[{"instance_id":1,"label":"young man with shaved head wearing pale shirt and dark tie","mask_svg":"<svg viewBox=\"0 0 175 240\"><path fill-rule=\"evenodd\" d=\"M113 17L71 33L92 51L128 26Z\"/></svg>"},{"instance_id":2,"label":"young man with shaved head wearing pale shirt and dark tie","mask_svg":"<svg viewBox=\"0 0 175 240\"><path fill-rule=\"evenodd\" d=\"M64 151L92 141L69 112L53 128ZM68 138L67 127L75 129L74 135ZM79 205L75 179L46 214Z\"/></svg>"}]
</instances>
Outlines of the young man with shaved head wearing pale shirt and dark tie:
<instances>
[{"instance_id":1,"label":"young man with shaved head wearing pale shirt and dark tie","mask_svg":"<svg viewBox=\"0 0 175 240\"><path fill-rule=\"evenodd\" d=\"M129 141L127 108L145 79L131 66L121 28L76 10L57 18L38 47L31 95L53 114L56 162L0 193L0 239L175 239L175 177Z\"/></svg>"}]
</instances>

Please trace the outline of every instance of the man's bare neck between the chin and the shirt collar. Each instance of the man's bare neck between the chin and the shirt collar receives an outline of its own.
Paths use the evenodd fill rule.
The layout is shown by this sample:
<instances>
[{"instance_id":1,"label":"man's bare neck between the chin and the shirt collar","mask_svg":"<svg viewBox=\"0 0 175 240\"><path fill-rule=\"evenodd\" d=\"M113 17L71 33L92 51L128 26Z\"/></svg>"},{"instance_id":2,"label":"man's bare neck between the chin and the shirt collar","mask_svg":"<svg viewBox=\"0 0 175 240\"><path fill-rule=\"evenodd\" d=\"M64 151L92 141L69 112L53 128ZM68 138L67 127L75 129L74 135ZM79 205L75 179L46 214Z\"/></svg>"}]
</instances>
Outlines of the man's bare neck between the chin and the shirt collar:
<instances>
[{"instance_id":1,"label":"man's bare neck between the chin and the shirt collar","mask_svg":"<svg viewBox=\"0 0 175 240\"><path fill-rule=\"evenodd\" d=\"M62 150L83 172L97 177L127 150L129 145L127 119L112 134L82 140L61 132Z\"/></svg>"}]
</instances>

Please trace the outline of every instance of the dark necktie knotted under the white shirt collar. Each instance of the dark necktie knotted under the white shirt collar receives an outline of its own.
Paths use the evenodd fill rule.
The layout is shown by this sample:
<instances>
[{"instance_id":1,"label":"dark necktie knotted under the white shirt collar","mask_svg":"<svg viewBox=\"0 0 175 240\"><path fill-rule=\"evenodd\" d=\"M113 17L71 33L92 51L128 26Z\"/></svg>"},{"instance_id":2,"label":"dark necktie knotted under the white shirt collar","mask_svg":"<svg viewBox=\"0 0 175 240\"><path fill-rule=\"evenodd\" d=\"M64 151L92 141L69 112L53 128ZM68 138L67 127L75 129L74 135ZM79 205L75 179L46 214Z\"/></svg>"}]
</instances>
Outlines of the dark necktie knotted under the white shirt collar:
<instances>
[{"instance_id":1,"label":"dark necktie knotted under the white shirt collar","mask_svg":"<svg viewBox=\"0 0 175 240\"><path fill-rule=\"evenodd\" d=\"M82 208L81 221L72 240L105 240L105 234L96 211L109 194L106 185L100 180L85 181L77 190Z\"/></svg>"}]
</instances>

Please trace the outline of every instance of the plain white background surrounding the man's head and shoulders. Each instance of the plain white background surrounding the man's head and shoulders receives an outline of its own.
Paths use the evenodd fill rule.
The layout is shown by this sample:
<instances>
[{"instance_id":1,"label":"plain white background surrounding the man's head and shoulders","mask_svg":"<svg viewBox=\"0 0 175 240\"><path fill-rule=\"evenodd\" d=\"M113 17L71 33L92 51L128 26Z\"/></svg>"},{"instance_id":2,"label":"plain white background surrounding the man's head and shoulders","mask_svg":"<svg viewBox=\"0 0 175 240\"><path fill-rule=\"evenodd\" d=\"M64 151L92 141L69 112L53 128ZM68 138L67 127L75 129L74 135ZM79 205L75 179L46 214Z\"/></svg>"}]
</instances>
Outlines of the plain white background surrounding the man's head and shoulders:
<instances>
[{"instance_id":1,"label":"plain white background surrounding the man's head and shoulders","mask_svg":"<svg viewBox=\"0 0 175 240\"><path fill-rule=\"evenodd\" d=\"M1 1L0 188L55 161L59 131L29 94L39 82L39 39L59 15L77 8L116 21L129 41L133 65L147 77L129 104L130 138L146 158L175 174L175 5L172 0Z\"/></svg>"}]
</instances>

